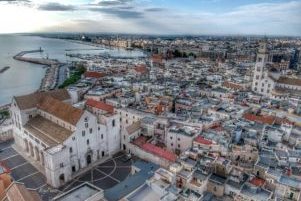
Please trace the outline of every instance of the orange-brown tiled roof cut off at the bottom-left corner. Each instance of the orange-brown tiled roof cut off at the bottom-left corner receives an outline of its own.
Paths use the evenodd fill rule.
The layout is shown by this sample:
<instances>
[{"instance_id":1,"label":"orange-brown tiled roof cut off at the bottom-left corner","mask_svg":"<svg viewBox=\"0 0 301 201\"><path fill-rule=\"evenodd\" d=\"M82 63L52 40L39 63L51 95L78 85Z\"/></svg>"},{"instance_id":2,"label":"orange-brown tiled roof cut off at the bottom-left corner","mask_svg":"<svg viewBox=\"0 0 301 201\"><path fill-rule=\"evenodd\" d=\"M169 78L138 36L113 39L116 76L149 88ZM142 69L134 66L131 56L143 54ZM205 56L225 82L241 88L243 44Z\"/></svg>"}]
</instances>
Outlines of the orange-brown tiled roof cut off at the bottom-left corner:
<instances>
[{"instance_id":1,"label":"orange-brown tiled roof cut off at the bottom-left corner","mask_svg":"<svg viewBox=\"0 0 301 201\"><path fill-rule=\"evenodd\" d=\"M34 190L28 190L24 184L14 182L7 191L4 200L8 201L42 201L38 193Z\"/></svg>"}]
</instances>

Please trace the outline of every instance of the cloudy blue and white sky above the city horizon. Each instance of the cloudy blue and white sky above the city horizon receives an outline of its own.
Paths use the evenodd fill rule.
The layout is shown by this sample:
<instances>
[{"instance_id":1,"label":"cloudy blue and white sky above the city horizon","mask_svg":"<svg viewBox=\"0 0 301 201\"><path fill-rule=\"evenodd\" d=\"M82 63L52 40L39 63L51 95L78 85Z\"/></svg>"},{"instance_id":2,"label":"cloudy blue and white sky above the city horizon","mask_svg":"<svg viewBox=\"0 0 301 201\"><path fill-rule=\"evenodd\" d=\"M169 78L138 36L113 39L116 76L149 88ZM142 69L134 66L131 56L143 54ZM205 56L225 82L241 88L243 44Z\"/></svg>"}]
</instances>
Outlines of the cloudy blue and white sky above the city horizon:
<instances>
[{"instance_id":1,"label":"cloudy blue and white sky above the city horizon","mask_svg":"<svg viewBox=\"0 0 301 201\"><path fill-rule=\"evenodd\" d=\"M0 34L301 36L301 0L0 0Z\"/></svg>"}]
</instances>

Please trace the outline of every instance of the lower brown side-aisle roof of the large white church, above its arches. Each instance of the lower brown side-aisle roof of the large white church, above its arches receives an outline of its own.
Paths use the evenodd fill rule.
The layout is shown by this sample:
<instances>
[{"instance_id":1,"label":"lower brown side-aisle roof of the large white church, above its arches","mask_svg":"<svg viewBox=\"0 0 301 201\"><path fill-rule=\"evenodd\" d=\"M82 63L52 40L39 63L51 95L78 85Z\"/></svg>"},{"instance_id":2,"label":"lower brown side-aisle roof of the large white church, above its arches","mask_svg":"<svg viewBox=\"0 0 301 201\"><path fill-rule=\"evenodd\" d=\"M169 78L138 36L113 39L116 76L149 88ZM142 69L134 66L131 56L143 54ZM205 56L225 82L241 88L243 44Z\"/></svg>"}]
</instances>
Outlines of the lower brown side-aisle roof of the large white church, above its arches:
<instances>
[{"instance_id":1,"label":"lower brown side-aisle roof of the large white church, above its arches","mask_svg":"<svg viewBox=\"0 0 301 201\"><path fill-rule=\"evenodd\" d=\"M24 128L50 147L64 142L72 134L72 131L39 115L29 119Z\"/></svg>"}]
</instances>

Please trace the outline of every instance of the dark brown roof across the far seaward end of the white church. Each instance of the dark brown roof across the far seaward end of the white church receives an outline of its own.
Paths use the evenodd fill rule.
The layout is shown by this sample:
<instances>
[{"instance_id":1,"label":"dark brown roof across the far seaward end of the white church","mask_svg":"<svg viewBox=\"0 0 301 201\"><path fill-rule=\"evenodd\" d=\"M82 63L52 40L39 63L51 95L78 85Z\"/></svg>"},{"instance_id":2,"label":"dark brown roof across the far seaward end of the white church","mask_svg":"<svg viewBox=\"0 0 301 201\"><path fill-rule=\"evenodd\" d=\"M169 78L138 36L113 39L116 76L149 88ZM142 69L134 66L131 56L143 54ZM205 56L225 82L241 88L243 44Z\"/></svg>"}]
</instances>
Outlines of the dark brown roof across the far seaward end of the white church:
<instances>
[{"instance_id":1,"label":"dark brown roof across the far seaward end of the white church","mask_svg":"<svg viewBox=\"0 0 301 201\"><path fill-rule=\"evenodd\" d=\"M24 110L36 107L41 99L45 96L51 96L60 101L70 99L70 96L66 89L57 89L47 92L35 92L24 96L15 96L14 99L16 100L18 107L21 110Z\"/></svg>"}]
</instances>

